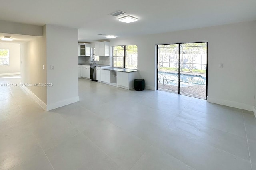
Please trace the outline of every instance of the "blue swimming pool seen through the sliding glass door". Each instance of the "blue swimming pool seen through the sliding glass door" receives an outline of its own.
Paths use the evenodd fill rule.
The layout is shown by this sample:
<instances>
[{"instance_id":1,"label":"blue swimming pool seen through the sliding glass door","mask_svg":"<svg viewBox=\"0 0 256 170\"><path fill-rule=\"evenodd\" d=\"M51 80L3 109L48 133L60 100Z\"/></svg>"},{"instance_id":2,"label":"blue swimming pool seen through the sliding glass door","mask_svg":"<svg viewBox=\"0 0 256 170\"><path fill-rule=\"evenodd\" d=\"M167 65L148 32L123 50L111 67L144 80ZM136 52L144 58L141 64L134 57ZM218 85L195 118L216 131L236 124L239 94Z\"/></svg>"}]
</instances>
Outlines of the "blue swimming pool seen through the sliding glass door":
<instances>
[{"instance_id":1,"label":"blue swimming pool seen through the sliding glass door","mask_svg":"<svg viewBox=\"0 0 256 170\"><path fill-rule=\"evenodd\" d=\"M179 75L178 73L170 73L164 71L158 71L158 83L166 83L166 77L169 85L178 86L179 83ZM160 81L160 82L159 82ZM193 75L192 73L180 73L180 86L187 87L192 85L206 85L206 75L196 74Z\"/></svg>"}]
</instances>

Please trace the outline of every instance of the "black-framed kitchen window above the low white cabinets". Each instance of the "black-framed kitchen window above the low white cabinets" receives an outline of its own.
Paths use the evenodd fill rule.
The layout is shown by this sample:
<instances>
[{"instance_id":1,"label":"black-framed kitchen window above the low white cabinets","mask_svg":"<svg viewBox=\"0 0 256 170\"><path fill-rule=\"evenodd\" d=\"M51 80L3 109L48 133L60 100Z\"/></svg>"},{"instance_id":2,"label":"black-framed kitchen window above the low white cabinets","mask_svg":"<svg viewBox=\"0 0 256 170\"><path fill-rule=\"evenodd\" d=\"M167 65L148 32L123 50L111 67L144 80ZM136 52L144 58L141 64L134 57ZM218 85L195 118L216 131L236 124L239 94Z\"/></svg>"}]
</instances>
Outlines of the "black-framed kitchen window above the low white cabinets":
<instances>
[{"instance_id":1,"label":"black-framed kitchen window above the low white cabinets","mask_svg":"<svg viewBox=\"0 0 256 170\"><path fill-rule=\"evenodd\" d=\"M120 45L113 47L113 67L137 69L137 45Z\"/></svg>"}]
</instances>

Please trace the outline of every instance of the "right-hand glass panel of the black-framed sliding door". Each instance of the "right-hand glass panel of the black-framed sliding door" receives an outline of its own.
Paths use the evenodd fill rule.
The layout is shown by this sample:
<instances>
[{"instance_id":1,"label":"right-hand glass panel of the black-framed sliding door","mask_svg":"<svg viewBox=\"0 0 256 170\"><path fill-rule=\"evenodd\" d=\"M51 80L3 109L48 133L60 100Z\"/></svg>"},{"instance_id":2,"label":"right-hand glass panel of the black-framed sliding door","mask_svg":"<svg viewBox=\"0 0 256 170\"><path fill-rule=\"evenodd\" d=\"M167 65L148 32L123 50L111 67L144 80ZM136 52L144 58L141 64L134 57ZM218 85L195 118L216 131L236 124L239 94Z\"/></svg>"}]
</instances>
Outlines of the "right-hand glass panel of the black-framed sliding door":
<instances>
[{"instance_id":1,"label":"right-hand glass panel of the black-framed sliding door","mask_svg":"<svg viewBox=\"0 0 256 170\"><path fill-rule=\"evenodd\" d=\"M206 99L207 43L180 44L180 94Z\"/></svg>"}]
</instances>

